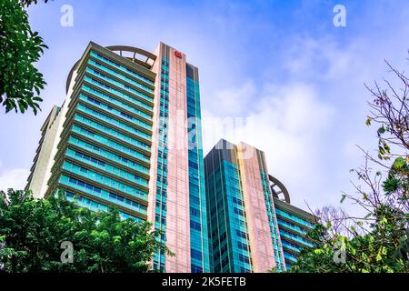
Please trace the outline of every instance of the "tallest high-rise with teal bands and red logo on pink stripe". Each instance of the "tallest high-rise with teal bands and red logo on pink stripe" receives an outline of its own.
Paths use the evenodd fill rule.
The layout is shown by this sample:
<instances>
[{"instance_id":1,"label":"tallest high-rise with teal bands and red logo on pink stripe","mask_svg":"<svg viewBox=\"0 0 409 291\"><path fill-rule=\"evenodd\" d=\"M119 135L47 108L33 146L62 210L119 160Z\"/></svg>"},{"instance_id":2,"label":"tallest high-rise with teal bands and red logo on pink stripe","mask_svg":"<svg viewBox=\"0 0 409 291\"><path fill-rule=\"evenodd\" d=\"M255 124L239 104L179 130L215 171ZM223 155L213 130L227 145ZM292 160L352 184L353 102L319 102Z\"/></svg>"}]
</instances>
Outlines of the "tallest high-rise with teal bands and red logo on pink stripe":
<instances>
[{"instance_id":1,"label":"tallest high-rise with teal bands and red logo on pink stripe","mask_svg":"<svg viewBox=\"0 0 409 291\"><path fill-rule=\"evenodd\" d=\"M208 272L198 70L163 43L155 52L90 43L42 127L27 189L59 189L93 210L149 220L175 256L165 272Z\"/></svg>"}]
</instances>

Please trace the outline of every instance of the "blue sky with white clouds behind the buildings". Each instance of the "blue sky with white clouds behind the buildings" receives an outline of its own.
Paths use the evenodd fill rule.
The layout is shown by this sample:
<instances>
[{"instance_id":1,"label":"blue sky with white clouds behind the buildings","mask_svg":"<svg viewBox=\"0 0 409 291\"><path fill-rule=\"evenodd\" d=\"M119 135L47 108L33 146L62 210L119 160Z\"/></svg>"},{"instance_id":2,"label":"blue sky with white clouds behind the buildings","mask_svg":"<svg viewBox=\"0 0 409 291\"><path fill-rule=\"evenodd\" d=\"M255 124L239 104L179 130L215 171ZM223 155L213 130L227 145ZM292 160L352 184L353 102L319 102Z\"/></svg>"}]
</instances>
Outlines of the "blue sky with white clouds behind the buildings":
<instances>
[{"instance_id":1,"label":"blue sky with white clouds behind the buildings","mask_svg":"<svg viewBox=\"0 0 409 291\"><path fill-rule=\"evenodd\" d=\"M333 24L337 4L345 27ZM74 26L60 25L62 5L73 6ZM313 208L352 193L349 169L363 162L355 145L377 146L364 125L364 82L389 75L384 59L408 65L405 0L55 0L29 15L50 47L38 64L48 85L40 114L0 115L1 189L25 186L39 128L64 101L66 76L91 40L149 51L163 41L183 51L200 69L205 151L224 137L210 134L211 121L250 118L257 130L238 130L232 141L264 150L294 204Z\"/></svg>"}]
</instances>

